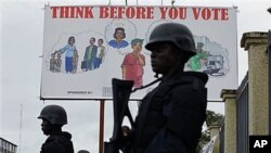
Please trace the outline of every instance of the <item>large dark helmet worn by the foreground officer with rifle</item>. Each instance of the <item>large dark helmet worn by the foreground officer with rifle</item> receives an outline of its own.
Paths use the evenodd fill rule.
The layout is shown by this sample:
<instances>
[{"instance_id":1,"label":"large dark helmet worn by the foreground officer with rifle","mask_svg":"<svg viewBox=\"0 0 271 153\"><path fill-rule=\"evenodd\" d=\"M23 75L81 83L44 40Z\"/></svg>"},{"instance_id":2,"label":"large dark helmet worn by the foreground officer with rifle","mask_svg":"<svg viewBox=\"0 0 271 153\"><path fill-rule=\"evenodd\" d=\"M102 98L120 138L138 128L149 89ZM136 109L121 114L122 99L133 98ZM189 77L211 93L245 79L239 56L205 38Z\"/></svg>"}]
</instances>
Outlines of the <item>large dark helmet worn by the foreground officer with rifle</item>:
<instances>
[{"instance_id":1,"label":"large dark helmet worn by the foreground officer with rifle","mask_svg":"<svg viewBox=\"0 0 271 153\"><path fill-rule=\"evenodd\" d=\"M150 40L145 48L150 51L153 46L160 42L171 42L189 56L196 54L195 41L191 30L179 23L164 23L156 26L151 33Z\"/></svg>"}]
</instances>

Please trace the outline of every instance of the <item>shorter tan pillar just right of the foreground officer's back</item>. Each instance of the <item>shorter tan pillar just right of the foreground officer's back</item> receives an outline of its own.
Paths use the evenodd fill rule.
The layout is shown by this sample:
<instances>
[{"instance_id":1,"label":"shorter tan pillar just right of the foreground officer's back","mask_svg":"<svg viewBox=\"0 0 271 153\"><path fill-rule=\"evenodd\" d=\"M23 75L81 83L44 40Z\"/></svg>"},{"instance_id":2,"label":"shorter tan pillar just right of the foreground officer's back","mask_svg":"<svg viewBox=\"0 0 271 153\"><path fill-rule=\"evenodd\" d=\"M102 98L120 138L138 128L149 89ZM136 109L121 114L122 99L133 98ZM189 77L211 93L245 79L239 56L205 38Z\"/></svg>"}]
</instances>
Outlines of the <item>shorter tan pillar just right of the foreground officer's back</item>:
<instances>
[{"instance_id":1,"label":"shorter tan pillar just right of the foreground officer's back","mask_svg":"<svg viewBox=\"0 0 271 153\"><path fill-rule=\"evenodd\" d=\"M236 153L236 90L221 91L224 101L224 153Z\"/></svg>"}]
</instances>

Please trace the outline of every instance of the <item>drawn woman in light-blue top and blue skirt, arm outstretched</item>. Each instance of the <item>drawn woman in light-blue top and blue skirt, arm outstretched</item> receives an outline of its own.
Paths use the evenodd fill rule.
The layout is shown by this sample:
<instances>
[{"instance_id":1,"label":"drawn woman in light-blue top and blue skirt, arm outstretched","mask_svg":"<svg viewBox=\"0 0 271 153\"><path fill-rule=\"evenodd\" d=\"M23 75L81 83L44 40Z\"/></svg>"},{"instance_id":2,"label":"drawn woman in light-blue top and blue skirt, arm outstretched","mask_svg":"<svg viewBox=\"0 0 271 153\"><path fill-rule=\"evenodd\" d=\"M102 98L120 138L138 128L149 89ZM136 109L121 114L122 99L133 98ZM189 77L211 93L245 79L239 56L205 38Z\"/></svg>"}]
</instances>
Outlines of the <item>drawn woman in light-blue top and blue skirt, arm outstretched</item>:
<instances>
[{"instance_id":1,"label":"drawn woman in light-blue top and blue skirt, arm outstretched","mask_svg":"<svg viewBox=\"0 0 271 153\"><path fill-rule=\"evenodd\" d=\"M65 72L66 73L73 72L73 56L74 56L75 51L77 51L77 49L75 46L75 37L74 36L68 38L68 42L64 48L55 51L55 53L66 52L66 54L65 54Z\"/></svg>"}]
</instances>

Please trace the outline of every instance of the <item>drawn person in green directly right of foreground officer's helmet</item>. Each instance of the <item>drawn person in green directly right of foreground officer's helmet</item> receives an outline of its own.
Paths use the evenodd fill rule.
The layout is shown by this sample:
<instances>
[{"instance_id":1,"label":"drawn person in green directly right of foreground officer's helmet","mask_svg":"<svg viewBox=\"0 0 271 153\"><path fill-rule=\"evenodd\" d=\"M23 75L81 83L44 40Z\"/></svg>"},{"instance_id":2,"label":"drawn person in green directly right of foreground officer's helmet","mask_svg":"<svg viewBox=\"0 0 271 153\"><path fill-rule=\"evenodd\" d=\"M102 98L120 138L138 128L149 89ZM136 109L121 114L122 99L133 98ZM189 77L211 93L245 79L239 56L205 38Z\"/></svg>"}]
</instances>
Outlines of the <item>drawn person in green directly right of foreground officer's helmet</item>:
<instances>
[{"instance_id":1,"label":"drawn person in green directly right of foreground officer's helmet","mask_svg":"<svg viewBox=\"0 0 271 153\"><path fill-rule=\"evenodd\" d=\"M202 69L206 65L209 52L203 50L204 43L197 42L196 54L190 58L189 65L192 71Z\"/></svg>"}]
</instances>

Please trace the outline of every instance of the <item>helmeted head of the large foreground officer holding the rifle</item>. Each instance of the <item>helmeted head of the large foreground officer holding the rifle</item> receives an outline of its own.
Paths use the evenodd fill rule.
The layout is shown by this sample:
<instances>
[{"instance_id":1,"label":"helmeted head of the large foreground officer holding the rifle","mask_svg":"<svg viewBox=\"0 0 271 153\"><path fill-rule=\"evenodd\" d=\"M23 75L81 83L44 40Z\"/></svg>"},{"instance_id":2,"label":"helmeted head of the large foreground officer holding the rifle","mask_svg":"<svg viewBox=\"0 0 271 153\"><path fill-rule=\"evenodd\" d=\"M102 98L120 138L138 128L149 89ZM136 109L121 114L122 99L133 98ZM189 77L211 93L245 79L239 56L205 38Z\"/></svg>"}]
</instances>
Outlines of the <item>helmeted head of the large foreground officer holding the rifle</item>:
<instances>
[{"instance_id":1,"label":"helmeted head of the large foreground officer holding the rifle","mask_svg":"<svg viewBox=\"0 0 271 153\"><path fill-rule=\"evenodd\" d=\"M156 26L145 46L151 53L151 64L157 74L167 74L173 67L183 71L188 60L196 54L191 30L178 23L165 23Z\"/></svg>"}]
</instances>

